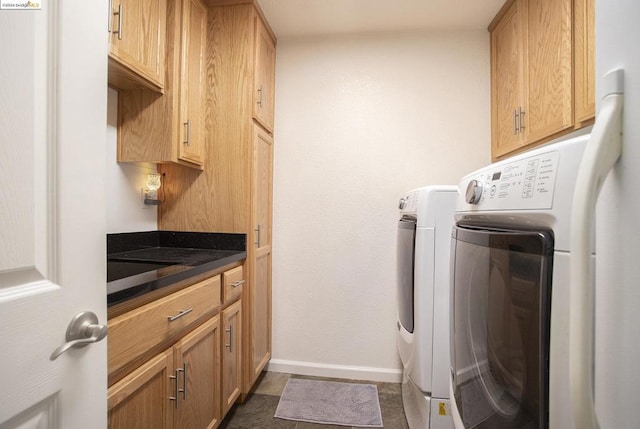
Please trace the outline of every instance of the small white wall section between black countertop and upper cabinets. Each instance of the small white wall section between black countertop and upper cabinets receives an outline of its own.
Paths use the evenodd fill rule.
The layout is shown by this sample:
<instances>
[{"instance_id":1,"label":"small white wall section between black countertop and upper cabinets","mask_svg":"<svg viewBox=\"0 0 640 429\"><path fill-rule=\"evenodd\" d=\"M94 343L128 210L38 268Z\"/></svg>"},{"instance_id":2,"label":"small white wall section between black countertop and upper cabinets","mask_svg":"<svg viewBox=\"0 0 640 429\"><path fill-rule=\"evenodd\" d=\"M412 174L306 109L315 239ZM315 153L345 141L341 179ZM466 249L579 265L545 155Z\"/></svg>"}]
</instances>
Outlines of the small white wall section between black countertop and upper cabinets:
<instances>
[{"instance_id":1,"label":"small white wall section between black countertop and upper cabinets","mask_svg":"<svg viewBox=\"0 0 640 429\"><path fill-rule=\"evenodd\" d=\"M107 232L155 231L158 229L156 206L145 206L141 189L147 174L157 172L154 164L118 164L118 92L109 88L107 105L106 194Z\"/></svg>"}]
</instances>

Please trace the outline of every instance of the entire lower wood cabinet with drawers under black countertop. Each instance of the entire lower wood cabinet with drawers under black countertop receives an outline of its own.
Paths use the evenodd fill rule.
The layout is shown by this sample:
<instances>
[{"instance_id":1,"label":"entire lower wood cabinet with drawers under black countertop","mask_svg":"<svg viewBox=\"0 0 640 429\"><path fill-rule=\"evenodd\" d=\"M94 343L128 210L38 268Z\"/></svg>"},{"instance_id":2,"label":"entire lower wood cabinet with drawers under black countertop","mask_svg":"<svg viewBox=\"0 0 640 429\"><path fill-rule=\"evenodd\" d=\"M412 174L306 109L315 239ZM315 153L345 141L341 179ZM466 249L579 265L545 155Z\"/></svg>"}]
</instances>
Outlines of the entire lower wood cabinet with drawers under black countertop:
<instances>
[{"instance_id":1,"label":"entire lower wood cabinet with drawers under black countertop","mask_svg":"<svg viewBox=\"0 0 640 429\"><path fill-rule=\"evenodd\" d=\"M219 286L221 277L229 279L230 285L241 285L242 267L134 309L116 317L114 323L127 320L130 314L142 317L145 308L153 309L162 302L171 302L194 287L197 290L212 282ZM210 299L220 303L221 289L217 287L213 291L217 296L210 296ZM241 296L238 293L229 295L218 308L217 313L214 311L204 321L196 322L195 328L186 328L188 332L165 350L156 351L148 359L143 355L146 360L141 365L109 387L109 429L213 429L220 424L242 389ZM131 332L135 333L135 330L129 330ZM116 345L123 344L119 336L130 336L124 331L114 330L114 333ZM131 339L134 343L144 342L144 336L153 336L154 332L136 335L138 338ZM135 350L135 347L131 349ZM121 354L112 356L115 355ZM139 354L132 358L139 360Z\"/></svg>"}]
</instances>

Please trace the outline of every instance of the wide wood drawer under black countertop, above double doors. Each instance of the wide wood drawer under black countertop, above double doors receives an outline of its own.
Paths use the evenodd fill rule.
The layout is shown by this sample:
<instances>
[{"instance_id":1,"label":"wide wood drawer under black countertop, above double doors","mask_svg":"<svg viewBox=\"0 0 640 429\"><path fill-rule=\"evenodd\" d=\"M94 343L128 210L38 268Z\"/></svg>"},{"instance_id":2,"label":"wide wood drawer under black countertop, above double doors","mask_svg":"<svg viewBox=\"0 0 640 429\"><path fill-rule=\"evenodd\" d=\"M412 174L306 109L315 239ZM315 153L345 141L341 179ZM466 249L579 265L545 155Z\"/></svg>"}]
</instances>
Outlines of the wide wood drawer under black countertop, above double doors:
<instances>
[{"instance_id":1,"label":"wide wood drawer under black countertop, above double doors","mask_svg":"<svg viewBox=\"0 0 640 429\"><path fill-rule=\"evenodd\" d=\"M109 374L212 312L220 305L220 283L215 276L109 320Z\"/></svg>"}]
</instances>

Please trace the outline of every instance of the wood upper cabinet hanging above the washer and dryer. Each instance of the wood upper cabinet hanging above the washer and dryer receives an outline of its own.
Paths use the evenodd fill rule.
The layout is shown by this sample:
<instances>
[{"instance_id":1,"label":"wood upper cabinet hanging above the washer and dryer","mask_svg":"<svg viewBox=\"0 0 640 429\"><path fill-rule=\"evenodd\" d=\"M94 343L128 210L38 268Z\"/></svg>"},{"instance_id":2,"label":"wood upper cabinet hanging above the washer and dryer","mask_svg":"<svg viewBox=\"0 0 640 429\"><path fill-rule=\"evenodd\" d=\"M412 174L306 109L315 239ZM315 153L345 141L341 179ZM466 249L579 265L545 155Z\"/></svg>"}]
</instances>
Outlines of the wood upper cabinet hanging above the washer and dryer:
<instances>
[{"instance_id":1,"label":"wood upper cabinet hanging above the washer and dryer","mask_svg":"<svg viewBox=\"0 0 640 429\"><path fill-rule=\"evenodd\" d=\"M593 56L574 66L576 25L572 0L509 0L491 23L494 160L580 125L577 94L583 83L574 81L574 73L582 73Z\"/></svg>"}]
</instances>

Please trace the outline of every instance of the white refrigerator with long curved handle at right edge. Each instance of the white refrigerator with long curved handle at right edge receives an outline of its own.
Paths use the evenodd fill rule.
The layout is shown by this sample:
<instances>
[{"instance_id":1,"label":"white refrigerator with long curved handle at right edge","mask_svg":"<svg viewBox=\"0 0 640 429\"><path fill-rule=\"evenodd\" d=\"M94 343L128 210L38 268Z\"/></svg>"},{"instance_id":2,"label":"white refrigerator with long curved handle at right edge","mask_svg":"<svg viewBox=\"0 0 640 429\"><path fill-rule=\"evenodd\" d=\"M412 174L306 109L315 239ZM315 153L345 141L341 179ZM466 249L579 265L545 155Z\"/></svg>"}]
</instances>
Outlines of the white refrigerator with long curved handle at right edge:
<instances>
[{"instance_id":1,"label":"white refrigerator with long curved handle at right edge","mask_svg":"<svg viewBox=\"0 0 640 429\"><path fill-rule=\"evenodd\" d=\"M597 113L592 135L596 130L601 135L607 135L607 129L612 132L603 140L607 149L593 146L592 158L597 161L606 154L613 168L609 174L606 169L598 171L589 183L585 180L588 187L602 185L595 210L595 276L572 284L576 297L593 300L582 303L588 320L576 320L574 325L585 331L573 335L576 340L595 340L593 352L587 351L589 347L581 351L580 345L574 344L572 353L572 361L580 363L572 370L572 408L573 414L587 417L577 423L584 429L640 427L640 200L636 190L640 183L639 24L640 2L595 0ZM624 88L612 90L614 85L607 78L616 69L622 70ZM616 117L621 124L615 124ZM620 154L617 161L616 151ZM571 311L578 313L573 303Z\"/></svg>"}]
</instances>

